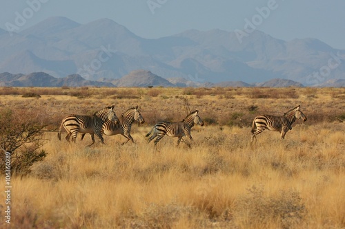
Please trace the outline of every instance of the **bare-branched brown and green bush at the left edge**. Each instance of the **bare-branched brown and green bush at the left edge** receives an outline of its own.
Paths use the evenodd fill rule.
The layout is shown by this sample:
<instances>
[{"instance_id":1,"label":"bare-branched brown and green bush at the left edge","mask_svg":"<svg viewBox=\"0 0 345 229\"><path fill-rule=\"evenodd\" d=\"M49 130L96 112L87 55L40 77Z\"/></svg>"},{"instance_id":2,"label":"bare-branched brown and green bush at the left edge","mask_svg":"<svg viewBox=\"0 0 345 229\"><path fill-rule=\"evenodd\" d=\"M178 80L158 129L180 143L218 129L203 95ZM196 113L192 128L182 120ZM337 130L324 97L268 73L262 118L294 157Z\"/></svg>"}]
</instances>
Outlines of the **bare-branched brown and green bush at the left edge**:
<instances>
[{"instance_id":1,"label":"bare-branched brown and green bush at the left edge","mask_svg":"<svg viewBox=\"0 0 345 229\"><path fill-rule=\"evenodd\" d=\"M0 110L0 173L5 171L6 152L11 155L11 173L21 175L30 173L32 164L46 157L46 151L39 151L45 126L35 117L30 112Z\"/></svg>"}]
</instances>

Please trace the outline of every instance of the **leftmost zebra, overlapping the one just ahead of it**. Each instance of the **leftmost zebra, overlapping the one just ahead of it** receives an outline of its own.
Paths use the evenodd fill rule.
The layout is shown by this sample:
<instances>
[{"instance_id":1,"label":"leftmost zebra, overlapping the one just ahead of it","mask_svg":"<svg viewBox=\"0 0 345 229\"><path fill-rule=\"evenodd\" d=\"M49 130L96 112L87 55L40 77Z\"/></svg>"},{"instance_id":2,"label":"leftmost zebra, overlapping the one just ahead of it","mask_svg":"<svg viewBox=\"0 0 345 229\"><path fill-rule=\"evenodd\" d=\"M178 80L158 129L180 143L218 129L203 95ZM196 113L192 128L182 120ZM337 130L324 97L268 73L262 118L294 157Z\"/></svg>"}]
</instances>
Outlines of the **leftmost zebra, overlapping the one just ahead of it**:
<instances>
[{"instance_id":1,"label":"leftmost zebra, overlapping the one just ahead of it","mask_svg":"<svg viewBox=\"0 0 345 229\"><path fill-rule=\"evenodd\" d=\"M70 140L70 135L72 135L72 142L75 142L77 138L77 133L95 133L99 138L99 141L104 144L103 136L101 133L102 125L106 120L112 120L114 122L119 122L115 111L115 105L111 107L106 107L101 109L100 111L95 112L92 116L80 116L72 114L70 116L66 116L63 118L59 133L57 137L61 140L61 129L64 127L67 131L66 140ZM95 139L92 139L92 144L95 143Z\"/></svg>"}]
</instances>

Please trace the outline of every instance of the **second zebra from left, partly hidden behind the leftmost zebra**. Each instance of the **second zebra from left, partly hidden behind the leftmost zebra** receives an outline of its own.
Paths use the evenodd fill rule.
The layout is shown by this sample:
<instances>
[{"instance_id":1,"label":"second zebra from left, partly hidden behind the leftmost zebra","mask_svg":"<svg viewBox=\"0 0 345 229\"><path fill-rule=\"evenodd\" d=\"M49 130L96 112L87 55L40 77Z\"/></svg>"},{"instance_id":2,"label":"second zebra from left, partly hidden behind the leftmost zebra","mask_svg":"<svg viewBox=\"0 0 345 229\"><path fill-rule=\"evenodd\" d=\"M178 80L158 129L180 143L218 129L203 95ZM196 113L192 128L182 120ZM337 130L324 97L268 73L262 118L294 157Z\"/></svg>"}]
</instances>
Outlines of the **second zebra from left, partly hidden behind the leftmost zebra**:
<instances>
[{"instance_id":1,"label":"second zebra from left, partly hidden behind the leftmost zebra","mask_svg":"<svg viewBox=\"0 0 345 229\"><path fill-rule=\"evenodd\" d=\"M130 135L130 129L132 127L132 123L134 121L137 121L141 124L145 122L144 118L141 116L141 113L138 110L138 106L132 107L121 114L121 117L119 117L119 123L116 124L115 122L112 122L110 120L107 120L103 123L102 131L105 135L117 135L121 134L125 138L127 138L126 142L123 142L123 144L126 144L129 140L131 140L134 143L134 140L132 136ZM85 133L81 134L81 140L83 140ZM91 133L91 138L94 139L93 133Z\"/></svg>"}]
</instances>

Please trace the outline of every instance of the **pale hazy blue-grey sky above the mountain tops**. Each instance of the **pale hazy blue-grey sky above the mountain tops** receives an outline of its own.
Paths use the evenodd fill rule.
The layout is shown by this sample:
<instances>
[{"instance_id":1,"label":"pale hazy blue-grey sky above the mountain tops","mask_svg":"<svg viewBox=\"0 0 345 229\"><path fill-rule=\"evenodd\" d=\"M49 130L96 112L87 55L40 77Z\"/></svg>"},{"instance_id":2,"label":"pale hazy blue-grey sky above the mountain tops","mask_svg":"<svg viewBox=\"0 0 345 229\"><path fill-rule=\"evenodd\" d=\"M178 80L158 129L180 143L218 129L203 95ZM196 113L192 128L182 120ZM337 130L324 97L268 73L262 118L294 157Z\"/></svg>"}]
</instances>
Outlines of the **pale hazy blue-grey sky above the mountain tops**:
<instances>
[{"instance_id":1,"label":"pale hazy blue-grey sky above the mountain tops","mask_svg":"<svg viewBox=\"0 0 345 229\"><path fill-rule=\"evenodd\" d=\"M312 37L345 50L344 0L0 0L0 3L0 28L5 30L6 23L16 25L17 17L26 17L20 29L52 16L68 17L78 23L108 18L144 38L170 36L190 29L244 30L250 23L249 26L277 39Z\"/></svg>"}]
</instances>

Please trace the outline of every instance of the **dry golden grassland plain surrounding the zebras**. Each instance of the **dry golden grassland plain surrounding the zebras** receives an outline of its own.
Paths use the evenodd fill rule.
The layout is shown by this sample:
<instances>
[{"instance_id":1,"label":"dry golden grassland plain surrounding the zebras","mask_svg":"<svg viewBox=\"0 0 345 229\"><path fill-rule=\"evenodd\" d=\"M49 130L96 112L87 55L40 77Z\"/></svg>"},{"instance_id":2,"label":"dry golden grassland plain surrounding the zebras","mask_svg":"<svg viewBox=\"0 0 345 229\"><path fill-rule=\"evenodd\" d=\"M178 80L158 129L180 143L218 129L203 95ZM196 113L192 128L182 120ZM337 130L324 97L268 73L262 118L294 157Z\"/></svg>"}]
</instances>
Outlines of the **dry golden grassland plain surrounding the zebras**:
<instances>
[{"instance_id":1,"label":"dry golden grassland plain surrounding the zebras","mask_svg":"<svg viewBox=\"0 0 345 229\"><path fill-rule=\"evenodd\" d=\"M184 98L206 123L192 129L196 144L164 137L155 151L145 134L182 120ZM146 123L132 127L135 144L58 140L64 116L112 104L118 116L139 105ZM297 105L306 122L284 141L264 131L250 146L255 116ZM345 228L344 105L345 89L329 88L1 88L0 109L47 125L48 155L13 175L12 223L0 227Z\"/></svg>"}]
</instances>

